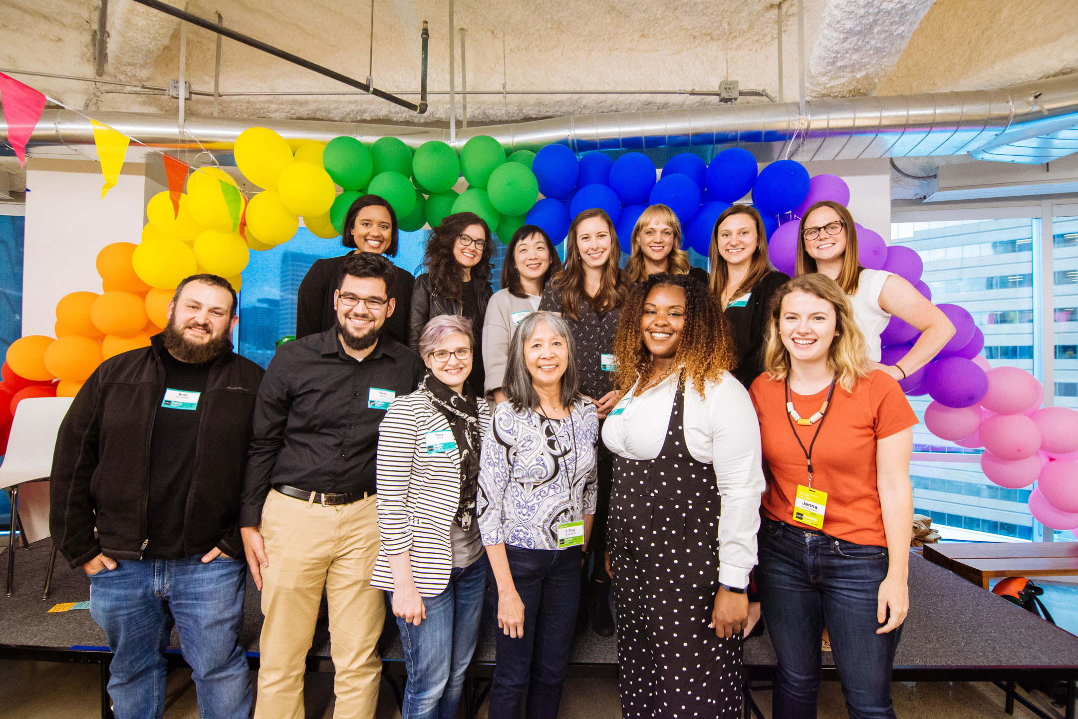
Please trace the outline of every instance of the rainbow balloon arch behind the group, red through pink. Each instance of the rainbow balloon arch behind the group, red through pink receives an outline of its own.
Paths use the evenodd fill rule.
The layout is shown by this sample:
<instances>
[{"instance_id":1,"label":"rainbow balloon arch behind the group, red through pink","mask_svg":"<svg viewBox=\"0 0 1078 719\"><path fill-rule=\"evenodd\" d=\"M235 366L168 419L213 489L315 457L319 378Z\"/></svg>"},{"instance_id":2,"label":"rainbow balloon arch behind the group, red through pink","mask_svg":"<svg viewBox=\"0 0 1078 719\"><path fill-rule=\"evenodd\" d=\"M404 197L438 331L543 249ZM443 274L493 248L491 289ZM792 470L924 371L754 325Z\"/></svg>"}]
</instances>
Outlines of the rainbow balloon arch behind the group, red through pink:
<instances>
[{"instance_id":1,"label":"rainbow balloon arch behind the group, red through pink","mask_svg":"<svg viewBox=\"0 0 1078 719\"><path fill-rule=\"evenodd\" d=\"M252 127L235 143L236 165L261 192L249 199L219 167L188 175L166 156L166 168L182 166L170 191L147 207L149 222L138 244L114 243L97 257L102 292L73 292L56 306L55 337L30 335L8 350L0 382L0 452L12 415L29 397L73 397L105 359L149 345L167 322L165 308L184 277L207 272L226 277L238 290L250 251L291 239L300 218L318 237L341 234L348 208L363 194L392 206L401 230L438 226L445 216L471 211L501 241L519 227L536 224L562 241L572 217L599 207L614 223L622 248L648 205L671 207L683 227L685 244L707 257L718 216L751 194L763 217L775 267L794 274L801 215L820 199L843 205L849 188L833 175L810 178L803 165L779 160L758 170L741 148L723 150L705 163L693 153L672 157L657 179L654 163L639 152L617 160L602 152L578 157L550 144L537 153L507 156L487 136L473 137L458 153L430 141L414 152L384 137L370 147L353 137L293 147L281 136ZM468 183L457 193L461 176ZM182 192L185 182L186 192ZM341 192L337 191L341 189ZM857 225L860 263L904 277L931 300L922 281L917 253L888 246L877 233ZM1078 529L1078 412L1044 407L1045 390L1028 372L992 369L980 356L984 335L972 316L940 304L956 333L925 368L900 383L911 396L931 397L925 425L940 439L983 447L981 468L995 484L1020 488L1037 482L1029 497L1033 516L1053 529ZM882 361L894 363L918 332L893 317L881 336Z\"/></svg>"}]
</instances>

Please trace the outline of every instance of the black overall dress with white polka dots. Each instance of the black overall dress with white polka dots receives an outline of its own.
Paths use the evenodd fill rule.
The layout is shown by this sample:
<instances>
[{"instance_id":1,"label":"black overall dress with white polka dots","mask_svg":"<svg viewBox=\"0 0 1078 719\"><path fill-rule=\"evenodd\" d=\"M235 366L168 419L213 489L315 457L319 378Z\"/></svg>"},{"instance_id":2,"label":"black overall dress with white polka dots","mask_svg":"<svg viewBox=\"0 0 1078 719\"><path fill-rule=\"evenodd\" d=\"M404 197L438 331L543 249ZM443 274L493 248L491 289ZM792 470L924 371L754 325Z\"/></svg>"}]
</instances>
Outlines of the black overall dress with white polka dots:
<instances>
[{"instance_id":1,"label":"black overall dress with white polka dots","mask_svg":"<svg viewBox=\"0 0 1078 719\"><path fill-rule=\"evenodd\" d=\"M609 548L624 719L737 717L742 639L711 621L719 585L715 470L685 441L679 384L662 452L616 457Z\"/></svg>"}]
</instances>

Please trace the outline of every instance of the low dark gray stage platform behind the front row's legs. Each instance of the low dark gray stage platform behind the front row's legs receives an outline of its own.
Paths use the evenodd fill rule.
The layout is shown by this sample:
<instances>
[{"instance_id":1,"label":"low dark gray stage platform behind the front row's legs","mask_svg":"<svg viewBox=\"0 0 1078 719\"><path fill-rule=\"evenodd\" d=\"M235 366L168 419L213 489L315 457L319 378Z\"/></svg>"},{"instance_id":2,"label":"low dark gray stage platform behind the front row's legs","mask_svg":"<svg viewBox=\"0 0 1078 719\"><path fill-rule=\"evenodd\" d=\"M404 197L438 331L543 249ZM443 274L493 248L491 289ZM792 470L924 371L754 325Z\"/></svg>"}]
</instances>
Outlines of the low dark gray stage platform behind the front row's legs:
<instances>
[{"instance_id":1,"label":"low dark gray stage platform behind the front row's legs","mask_svg":"<svg viewBox=\"0 0 1078 719\"><path fill-rule=\"evenodd\" d=\"M61 558L53 577L50 597L44 602L41 599L50 549L50 540L45 539L29 549L16 550L15 593L11 597L0 597L0 659L100 664L103 682L112 655L105 646L105 633L94 623L89 611L49 612L57 604L88 599L89 580L81 571L68 569ZM258 590L248 581L243 642L252 668L258 668L259 632L262 626L259 596ZM497 623L487 607L469 670L471 677L481 679L493 674L497 631ZM175 631L171 647L170 663L183 666ZM387 678L403 677L403 655L393 631L383 637L382 649ZM617 662L614 638L599 637L588 631L577 637L569 670L575 676L613 677L618 673ZM748 679L761 681L771 678L775 654L766 633L745 642L744 664ZM307 669L333 670L324 613L319 618L307 656ZM824 655L824 677L838 679L828 653ZM1066 718L1078 719L1075 714L1078 636L913 553L910 556L910 613L895 656L894 680L996 681L1003 688L1013 687L1015 681L1066 680ZM471 683L473 686L469 687L466 699L475 705L482 701L482 683L485 682ZM399 691L399 679L391 685ZM1021 695L1007 694L1008 704L1014 699L1025 703ZM102 691L102 716L106 716L107 708ZM1031 708L1040 713L1039 707ZM1000 702L1000 713L1003 710L1004 703Z\"/></svg>"}]
</instances>

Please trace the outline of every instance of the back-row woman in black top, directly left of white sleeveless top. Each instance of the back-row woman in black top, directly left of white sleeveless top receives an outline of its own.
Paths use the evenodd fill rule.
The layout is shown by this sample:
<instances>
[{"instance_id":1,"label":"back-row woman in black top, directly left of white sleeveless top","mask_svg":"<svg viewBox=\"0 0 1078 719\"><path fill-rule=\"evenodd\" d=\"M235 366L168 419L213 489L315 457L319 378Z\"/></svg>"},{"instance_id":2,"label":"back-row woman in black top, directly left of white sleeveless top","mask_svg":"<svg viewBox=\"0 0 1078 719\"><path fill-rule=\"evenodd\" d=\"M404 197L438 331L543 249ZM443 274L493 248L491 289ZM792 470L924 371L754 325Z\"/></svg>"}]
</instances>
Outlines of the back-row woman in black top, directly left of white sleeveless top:
<instances>
[{"instance_id":1,"label":"back-row woman in black top, directly left of white sleeveless top","mask_svg":"<svg viewBox=\"0 0 1078 719\"><path fill-rule=\"evenodd\" d=\"M763 372L768 307L790 276L768 263L768 234L760 213L731 205L711 231L711 292L730 320L737 351L734 376L748 389Z\"/></svg>"}]
</instances>

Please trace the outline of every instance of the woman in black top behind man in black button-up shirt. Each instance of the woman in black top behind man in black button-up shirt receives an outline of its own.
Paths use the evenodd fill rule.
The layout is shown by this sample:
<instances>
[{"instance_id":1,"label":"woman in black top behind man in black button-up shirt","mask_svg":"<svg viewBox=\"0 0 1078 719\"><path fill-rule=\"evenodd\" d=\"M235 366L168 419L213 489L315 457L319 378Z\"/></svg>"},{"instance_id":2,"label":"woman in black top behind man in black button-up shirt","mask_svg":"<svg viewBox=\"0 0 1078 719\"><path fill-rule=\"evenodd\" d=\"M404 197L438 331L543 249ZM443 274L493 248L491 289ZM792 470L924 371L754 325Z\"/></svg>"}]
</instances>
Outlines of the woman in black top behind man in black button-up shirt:
<instances>
[{"instance_id":1,"label":"woman in black top behind man in black button-up shirt","mask_svg":"<svg viewBox=\"0 0 1078 719\"><path fill-rule=\"evenodd\" d=\"M397 213L378 195L363 195L351 204L344 218L341 244L353 252L374 252L396 257ZM347 254L326 260L315 260L310 265L295 298L295 336L324 332L336 324L333 293L341 281L341 265ZM406 269L393 267L393 281L389 296L397 300L397 308L386 318L382 333L402 345L407 344L407 322L412 305L412 285L415 278Z\"/></svg>"}]
</instances>

